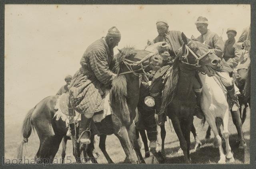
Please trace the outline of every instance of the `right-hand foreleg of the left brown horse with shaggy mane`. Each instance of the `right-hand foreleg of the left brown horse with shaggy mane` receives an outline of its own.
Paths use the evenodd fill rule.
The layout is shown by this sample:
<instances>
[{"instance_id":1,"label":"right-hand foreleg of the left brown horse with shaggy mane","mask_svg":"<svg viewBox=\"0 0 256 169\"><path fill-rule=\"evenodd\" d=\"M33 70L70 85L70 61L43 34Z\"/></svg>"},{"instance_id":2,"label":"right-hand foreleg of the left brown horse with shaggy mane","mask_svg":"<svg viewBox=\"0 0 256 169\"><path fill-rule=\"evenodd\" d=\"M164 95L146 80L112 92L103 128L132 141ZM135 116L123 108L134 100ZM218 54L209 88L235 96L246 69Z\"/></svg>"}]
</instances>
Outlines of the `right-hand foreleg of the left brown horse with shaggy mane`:
<instances>
[{"instance_id":1,"label":"right-hand foreleg of the left brown horse with shaggy mane","mask_svg":"<svg viewBox=\"0 0 256 169\"><path fill-rule=\"evenodd\" d=\"M135 125L133 123L128 127L128 137L129 137L129 139L132 143L132 146L136 152L139 163L145 163L145 161L142 157L142 154L140 152L140 146L139 146L138 140L136 139Z\"/></svg>"}]
</instances>

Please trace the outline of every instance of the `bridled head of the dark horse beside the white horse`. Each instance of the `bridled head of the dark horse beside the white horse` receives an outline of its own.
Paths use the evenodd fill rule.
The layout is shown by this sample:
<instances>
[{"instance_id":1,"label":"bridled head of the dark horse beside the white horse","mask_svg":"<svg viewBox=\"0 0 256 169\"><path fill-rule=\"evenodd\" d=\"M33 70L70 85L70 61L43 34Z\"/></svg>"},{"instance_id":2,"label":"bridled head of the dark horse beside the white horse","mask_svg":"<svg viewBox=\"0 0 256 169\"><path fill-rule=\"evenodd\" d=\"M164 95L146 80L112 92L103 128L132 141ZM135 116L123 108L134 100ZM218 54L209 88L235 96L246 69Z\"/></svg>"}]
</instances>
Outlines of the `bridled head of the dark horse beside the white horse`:
<instances>
[{"instance_id":1,"label":"bridled head of the dark horse beside the white horse","mask_svg":"<svg viewBox=\"0 0 256 169\"><path fill-rule=\"evenodd\" d=\"M193 35L191 39L188 39L182 32L181 36L184 41L182 46L183 63L201 67L204 70L206 67L220 68L221 59L207 45L196 40Z\"/></svg>"}]
</instances>

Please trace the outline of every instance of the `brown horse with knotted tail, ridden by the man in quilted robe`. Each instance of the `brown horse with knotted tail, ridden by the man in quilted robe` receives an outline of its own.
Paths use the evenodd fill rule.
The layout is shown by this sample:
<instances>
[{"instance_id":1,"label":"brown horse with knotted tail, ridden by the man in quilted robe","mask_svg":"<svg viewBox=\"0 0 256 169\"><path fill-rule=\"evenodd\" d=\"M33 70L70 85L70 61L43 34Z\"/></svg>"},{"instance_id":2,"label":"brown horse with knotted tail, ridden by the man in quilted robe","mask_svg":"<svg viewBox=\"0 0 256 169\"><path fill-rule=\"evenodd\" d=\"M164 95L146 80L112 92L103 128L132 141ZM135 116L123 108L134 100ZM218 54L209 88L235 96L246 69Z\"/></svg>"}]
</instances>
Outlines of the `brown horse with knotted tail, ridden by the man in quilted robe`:
<instances>
[{"instance_id":1,"label":"brown horse with knotted tail, ridden by the man in quilted robe","mask_svg":"<svg viewBox=\"0 0 256 169\"><path fill-rule=\"evenodd\" d=\"M169 45L158 43L156 49L158 51L169 49ZM110 91L113 114L107 116L102 122L95 123L100 134L115 134L118 137L131 163L145 163L136 140L133 119L138 104L139 73L150 71L154 66L162 63L161 55L155 54L145 50L135 50L132 47L120 50L115 66L118 76L113 80ZM60 142L68 130L64 121L54 118L57 111L54 107L58 98L59 96L44 98L26 115L22 125L23 141L18 147L18 159L22 159L23 145L28 142L32 129L35 128L40 139L39 149L35 155L36 161L38 163L53 162ZM80 144L76 142L78 136L75 136L75 125L70 124L70 128L73 154L76 162L81 163ZM137 157L134 156L132 146Z\"/></svg>"}]
</instances>

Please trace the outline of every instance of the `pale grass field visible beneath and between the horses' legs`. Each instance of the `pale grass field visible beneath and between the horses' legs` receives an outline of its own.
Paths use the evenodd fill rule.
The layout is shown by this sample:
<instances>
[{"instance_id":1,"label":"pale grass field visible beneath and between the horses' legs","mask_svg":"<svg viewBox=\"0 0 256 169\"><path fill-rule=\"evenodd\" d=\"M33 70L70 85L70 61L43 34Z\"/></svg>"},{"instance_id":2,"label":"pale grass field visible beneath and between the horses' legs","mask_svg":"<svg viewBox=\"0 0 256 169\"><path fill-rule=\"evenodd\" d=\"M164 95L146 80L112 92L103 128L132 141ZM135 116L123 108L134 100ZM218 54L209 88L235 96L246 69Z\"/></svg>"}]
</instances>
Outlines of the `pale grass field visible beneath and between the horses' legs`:
<instances>
[{"instance_id":1,"label":"pale grass field visible beneath and between the horses' legs","mask_svg":"<svg viewBox=\"0 0 256 169\"><path fill-rule=\"evenodd\" d=\"M28 109L27 109L28 110ZM22 140L21 136L21 126L22 121L25 117L26 111L21 112L20 114L5 114L5 159L16 159L16 151L18 144ZM198 132L199 138L202 141L203 145L198 151L194 151L194 138L191 134L191 159L192 163L206 164L206 163L217 163L219 160L219 152L217 148L212 147L213 143L213 133L211 135L211 139L208 142L204 141L204 137L206 134L206 130L208 128L208 124L203 127L201 125L201 120L198 118L194 118L194 125ZM179 141L176 133L173 130L170 130L170 124L167 121L165 124L166 127L166 140L165 140L165 150L166 150L166 163L184 163L184 158L182 155L178 154L177 151L179 149ZM244 153L244 150L238 149L236 145L236 128L232 122L232 118L230 115L229 120L229 131L230 131L230 146L232 152L234 154L235 162L237 164L241 163L249 163L249 154ZM246 121L243 125L244 137L246 138L246 143L248 147L250 146L250 111L248 111L248 115ZM98 144L98 137L96 137L96 144ZM223 143L224 145L224 143ZM32 134L30 138L28 138L28 143L23 149L23 156L27 159L33 159L34 155L38 151L39 147L39 139L37 134ZM120 145L119 140L116 136L111 135L106 139L106 150L109 153L110 157L114 161L114 163L123 163L125 159L125 153ZM100 151L98 145L95 145L95 151L98 154L97 160L98 163L107 163L104 155ZM56 154L56 158L60 159L62 152L62 146L60 146L58 153ZM249 151L248 151L249 152ZM142 155L144 156L144 146L142 144ZM69 159L72 159L75 162L75 159L72 155L72 143L68 141L66 156L69 156Z\"/></svg>"}]
</instances>

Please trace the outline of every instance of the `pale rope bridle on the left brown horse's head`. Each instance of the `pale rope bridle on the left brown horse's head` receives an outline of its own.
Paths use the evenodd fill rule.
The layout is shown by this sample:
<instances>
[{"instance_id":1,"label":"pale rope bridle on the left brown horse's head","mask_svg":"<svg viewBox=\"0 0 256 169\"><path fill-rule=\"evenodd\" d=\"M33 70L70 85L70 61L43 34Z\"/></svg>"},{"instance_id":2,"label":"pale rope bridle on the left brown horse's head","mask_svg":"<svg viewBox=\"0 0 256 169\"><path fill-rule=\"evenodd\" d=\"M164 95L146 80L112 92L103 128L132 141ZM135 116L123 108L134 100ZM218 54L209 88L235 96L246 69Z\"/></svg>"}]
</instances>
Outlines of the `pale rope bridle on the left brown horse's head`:
<instances>
[{"instance_id":1,"label":"pale rope bridle on the left brown horse's head","mask_svg":"<svg viewBox=\"0 0 256 169\"><path fill-rule=\"evenodd\" d=\"M144 73L145 75L150 76L150 74L149 74L149 73L146 73L146 71L145 71L145 69L146 69L149 65L144 66L144 65L142 65L142 63L143 63L144 61L150 59L152 56L154 56L154 55L156 55L156 54L157 54L157 53L151 52L151 53L149 53L148 55L146 55L143 59L141 59L140 61L137 61L137 62L131 61L131 60L129 60L129 59L124 59L122 62L126 65L126 67L128 68L129 71L122 72L122 73L118 73L117 76L119 76L119 75L125 75L125 74L128 74L128 73L132 73L132 74L134 74L134 75L136 75L136 76L140 76L140 74L142 74L142 73L136 73L136 71L141 71L141 70L143 71L143 73ZM132 66L140 66L140 69L133 70L133 69L132 69Z\"/></svg>"}]
</instances>

